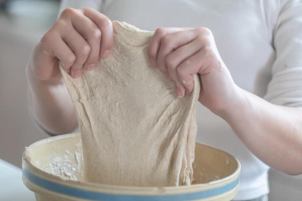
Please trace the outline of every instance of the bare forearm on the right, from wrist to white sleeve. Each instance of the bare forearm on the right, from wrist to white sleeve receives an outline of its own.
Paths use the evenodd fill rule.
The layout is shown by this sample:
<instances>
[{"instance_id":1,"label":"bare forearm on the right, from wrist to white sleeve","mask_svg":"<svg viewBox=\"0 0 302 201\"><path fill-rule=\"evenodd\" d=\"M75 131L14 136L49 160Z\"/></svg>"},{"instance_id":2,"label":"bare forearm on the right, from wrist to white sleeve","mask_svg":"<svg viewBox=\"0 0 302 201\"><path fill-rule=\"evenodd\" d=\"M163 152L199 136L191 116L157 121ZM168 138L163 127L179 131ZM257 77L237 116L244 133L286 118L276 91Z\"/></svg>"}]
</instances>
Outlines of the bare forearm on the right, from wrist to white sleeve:
<instances>
[{"instance_id":1,"label":"bare forearm on the right, from wrist to white sleeve","mask_svg":"<svg viewBox=\"0 0 302 201\"><path fill-rule=\"evenodd\" d=\"M287 174L302 173L302 109L271 104L239 88L222 117L260 160Z\"/></svg>"}]
</instances>

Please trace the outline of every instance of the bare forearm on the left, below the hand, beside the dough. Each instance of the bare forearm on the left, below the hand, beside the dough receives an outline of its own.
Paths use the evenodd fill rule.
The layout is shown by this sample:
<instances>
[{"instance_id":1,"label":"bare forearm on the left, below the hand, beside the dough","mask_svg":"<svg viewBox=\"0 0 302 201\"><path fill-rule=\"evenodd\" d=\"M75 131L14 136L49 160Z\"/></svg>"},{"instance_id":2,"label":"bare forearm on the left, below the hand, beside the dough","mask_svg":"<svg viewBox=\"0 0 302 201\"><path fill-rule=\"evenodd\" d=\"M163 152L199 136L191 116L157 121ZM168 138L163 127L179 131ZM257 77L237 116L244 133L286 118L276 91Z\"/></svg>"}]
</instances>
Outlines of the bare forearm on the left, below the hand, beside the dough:
<instances>
[{"instance_id":1,"label":"bare forearm on the left, below the hand, beside the dough","mask_svg":"<svg viewBox=\"0 0 302 201\"><path fill-rule=\"evenodd\" d=\"M27 79L28 107L34 121L52 134L69 133L75 129L78 122L63 80L56 83L43 81L29 73Z\"/></svg>"}]
</instances>

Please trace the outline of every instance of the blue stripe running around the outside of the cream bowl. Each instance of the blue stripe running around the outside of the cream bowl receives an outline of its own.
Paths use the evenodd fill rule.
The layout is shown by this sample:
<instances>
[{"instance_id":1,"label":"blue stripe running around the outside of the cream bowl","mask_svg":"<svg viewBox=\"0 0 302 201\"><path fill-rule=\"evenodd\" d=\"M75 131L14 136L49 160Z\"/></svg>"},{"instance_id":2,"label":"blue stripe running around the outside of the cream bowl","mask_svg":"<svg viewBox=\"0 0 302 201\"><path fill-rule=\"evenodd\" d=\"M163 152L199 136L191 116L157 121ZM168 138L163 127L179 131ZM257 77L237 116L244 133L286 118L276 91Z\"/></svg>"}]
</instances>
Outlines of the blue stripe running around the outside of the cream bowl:
<instances>
[{"instance_id":1,"label":"blue stripe running around the outside of the cream bowl","mask_svg":"<svg viewBox=\"0 0 302 201\"><path fill-rule=\"evenodd\" d=\"M173 200L173 201L185 201L185 200L194 200L209 198L216 196L227 191L234 189L239 183L239 177L222 187L217 187L214 189L203 190L194 193L182 193L182 194L173 194L173 195L125 195L125 194L108 194L108 193L98 193L94 191L81 190L73 187L64 186L62 184L56 184L51 181L44 180L36 175L30 173L25 168L23 169L23 175L32 183L46 188L48 190L62 193L69 196L74 196L82 199L88 200L102 200L102 201L115 201L115 200L125 200L125 201L159 201L159 200Z\"/></svg>"}]
</instances>

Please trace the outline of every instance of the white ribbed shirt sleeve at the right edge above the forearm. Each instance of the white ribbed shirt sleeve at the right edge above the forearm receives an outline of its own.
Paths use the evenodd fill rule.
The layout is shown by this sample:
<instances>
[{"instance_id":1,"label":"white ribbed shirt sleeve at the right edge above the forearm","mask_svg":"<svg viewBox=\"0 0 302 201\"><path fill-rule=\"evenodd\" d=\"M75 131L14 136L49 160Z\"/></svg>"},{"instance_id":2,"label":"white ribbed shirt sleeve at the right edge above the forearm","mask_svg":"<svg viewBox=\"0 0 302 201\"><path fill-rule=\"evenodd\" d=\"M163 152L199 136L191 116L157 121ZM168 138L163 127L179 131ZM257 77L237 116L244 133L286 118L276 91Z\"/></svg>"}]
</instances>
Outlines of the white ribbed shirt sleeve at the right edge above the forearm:
<instances>
[{"instance_id":1,"label":"white ribbed shirt sleeve at the right edge above the forearm","mask_svg":"<svg viewBox=\"0 0 302 201\"><path fill-rule=\"evenodd\" d=\"M281 6L273 39L276 58L264 99L302 107L302 0L286 1Z\"/></svg>"}]
</instances>

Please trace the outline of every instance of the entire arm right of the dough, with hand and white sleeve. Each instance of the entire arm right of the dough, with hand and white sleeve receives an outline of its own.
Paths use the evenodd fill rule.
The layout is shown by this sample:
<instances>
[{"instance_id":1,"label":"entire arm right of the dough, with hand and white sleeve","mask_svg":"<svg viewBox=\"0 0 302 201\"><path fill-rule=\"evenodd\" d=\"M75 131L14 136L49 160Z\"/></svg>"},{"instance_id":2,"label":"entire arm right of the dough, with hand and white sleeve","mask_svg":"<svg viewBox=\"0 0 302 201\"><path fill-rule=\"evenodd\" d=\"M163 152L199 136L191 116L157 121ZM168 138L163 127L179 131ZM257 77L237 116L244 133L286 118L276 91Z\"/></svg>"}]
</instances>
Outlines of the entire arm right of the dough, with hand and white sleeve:
<instances>
[{"instance_id":1,"label":"entire arm right of the dough, with hand and white sleeve","mask_svg":"<svg viewBox=\"0 0 302 201\"><path fill-rule=\"evenodd\" d=\"M302 173L302 4L284 5L275 30L277 58L264 99L233 81L206 28L156 30L150 64L175 83L178 97L201 78L199 102L223 118L253 154L287 174ZM283 106L281 106L283 105ZM296 107L296 108L294 108Z\"/></svg>"}]
</instances>

